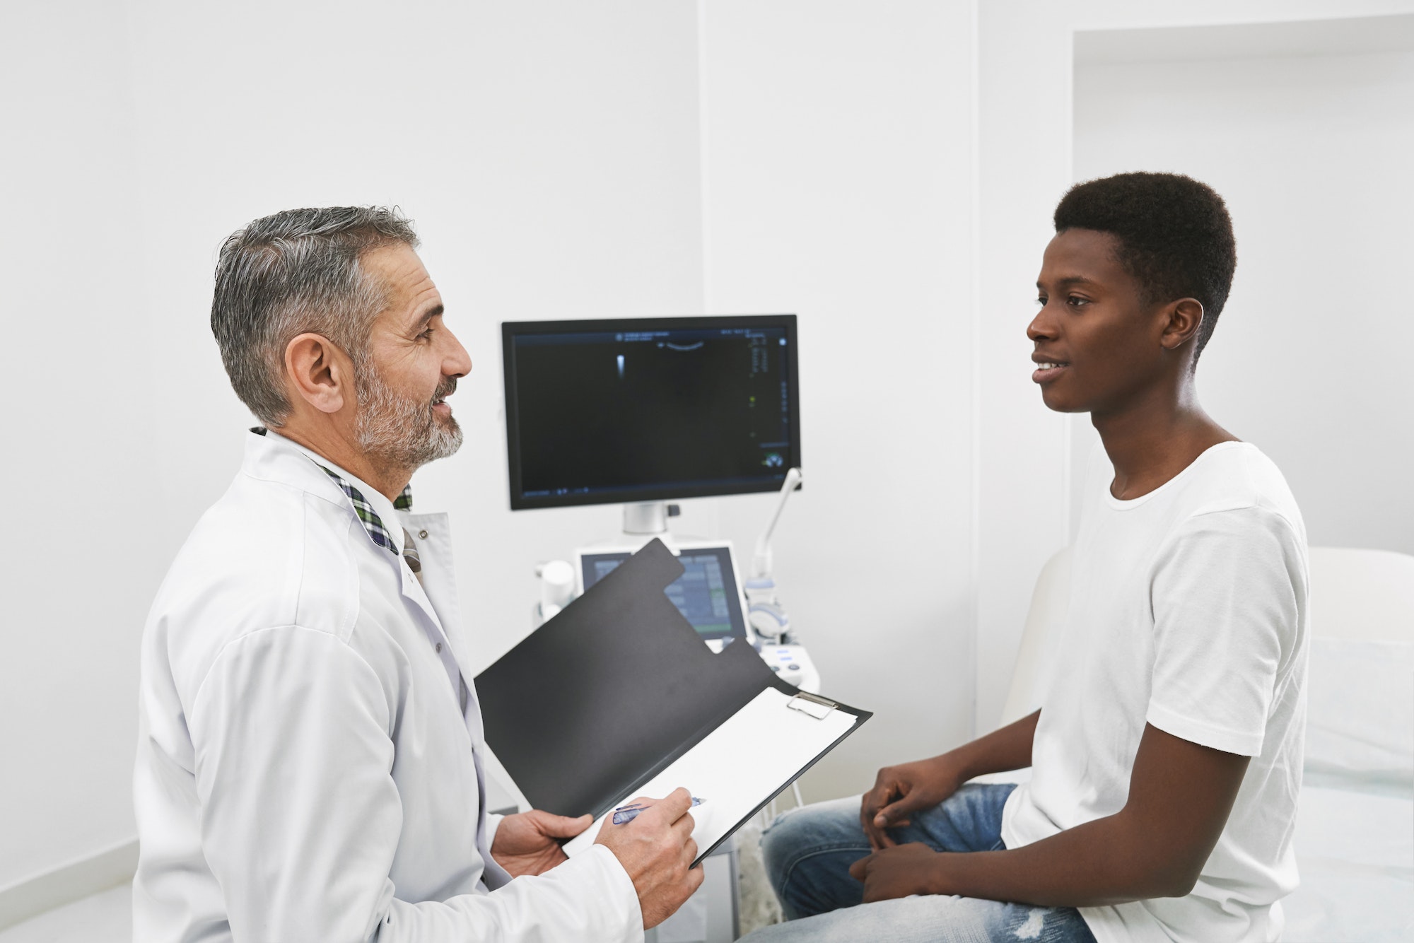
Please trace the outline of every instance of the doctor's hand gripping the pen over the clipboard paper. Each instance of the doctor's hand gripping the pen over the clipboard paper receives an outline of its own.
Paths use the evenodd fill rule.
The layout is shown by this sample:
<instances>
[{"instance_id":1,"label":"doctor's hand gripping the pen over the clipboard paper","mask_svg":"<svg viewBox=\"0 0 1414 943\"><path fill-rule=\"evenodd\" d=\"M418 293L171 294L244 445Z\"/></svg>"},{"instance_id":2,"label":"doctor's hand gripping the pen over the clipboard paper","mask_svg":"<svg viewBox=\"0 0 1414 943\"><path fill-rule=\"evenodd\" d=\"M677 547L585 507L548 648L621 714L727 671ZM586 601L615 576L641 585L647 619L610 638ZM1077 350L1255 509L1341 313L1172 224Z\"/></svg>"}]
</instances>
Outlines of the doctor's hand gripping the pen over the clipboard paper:
<instances>
[{"instance_id":1,"label":"doctor's hand gripping the pen over the clipboard paper","mask_svg":"<svg viewBox=\"0 0 1414 943\"><path fill-rule=\"evenodd\" d=\"M612 851L628 871L648 930L691 896L703 882L703 869L691 867L697 843L693 841L693 817L687 813L693 797L686 789L674 789L656 802L638 797L633 803L649 809L622 826L605 820L594 844Z\"/></svg>"}]
</instances>

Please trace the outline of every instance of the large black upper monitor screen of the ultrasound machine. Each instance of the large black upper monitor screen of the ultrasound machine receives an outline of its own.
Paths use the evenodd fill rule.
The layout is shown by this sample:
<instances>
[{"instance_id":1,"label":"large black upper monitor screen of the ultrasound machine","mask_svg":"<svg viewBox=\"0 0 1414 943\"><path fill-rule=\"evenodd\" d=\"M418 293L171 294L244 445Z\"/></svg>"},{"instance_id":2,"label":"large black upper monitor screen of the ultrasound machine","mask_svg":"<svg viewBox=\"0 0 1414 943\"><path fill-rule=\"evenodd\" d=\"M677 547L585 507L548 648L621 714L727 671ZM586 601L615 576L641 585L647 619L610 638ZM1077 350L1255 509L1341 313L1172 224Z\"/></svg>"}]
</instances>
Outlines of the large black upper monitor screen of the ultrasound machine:
<instances>
[{"instance_id":1,"label":"large black upper monitor screen of the ultrasound machine","mask_svg":"<svg viewBox=\"0 0 1414 943\"><path fill-rule=\"evenodd\" d=\"M775 491L800 465L793 314L501 329L512 509Z\"/></svg>"}]
</instances>

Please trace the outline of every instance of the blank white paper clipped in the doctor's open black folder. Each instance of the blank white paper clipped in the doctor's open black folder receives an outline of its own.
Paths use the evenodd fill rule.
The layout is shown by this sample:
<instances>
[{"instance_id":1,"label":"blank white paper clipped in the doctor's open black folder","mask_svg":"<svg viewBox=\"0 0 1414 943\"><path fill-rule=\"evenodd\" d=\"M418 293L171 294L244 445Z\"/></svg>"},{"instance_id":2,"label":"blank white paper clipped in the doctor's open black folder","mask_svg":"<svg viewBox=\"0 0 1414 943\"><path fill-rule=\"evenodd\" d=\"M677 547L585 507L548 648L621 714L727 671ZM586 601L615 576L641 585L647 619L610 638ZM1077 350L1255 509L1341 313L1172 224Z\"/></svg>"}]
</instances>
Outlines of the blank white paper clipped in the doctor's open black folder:
<instances>
[{"instance_id":1,"label":"blank white paper clipped in the doctor's open black folder","mask_svg":"<svg viewBox=\"0 0 1414 943\"><path fill-rule=\"evenodd\" d=\"M696 821L693 838L699 855L703 854L860 721L844 710L819 717L788 707L790 700L783 691L765 689L667 769L632 795L621 796L614 806L625 806L638 796L662 799L683 786L706 800L690 813ZM564 853L574 857L594 844L609 814L600 816L566 843Z\"/></svg>"}]
</instances>

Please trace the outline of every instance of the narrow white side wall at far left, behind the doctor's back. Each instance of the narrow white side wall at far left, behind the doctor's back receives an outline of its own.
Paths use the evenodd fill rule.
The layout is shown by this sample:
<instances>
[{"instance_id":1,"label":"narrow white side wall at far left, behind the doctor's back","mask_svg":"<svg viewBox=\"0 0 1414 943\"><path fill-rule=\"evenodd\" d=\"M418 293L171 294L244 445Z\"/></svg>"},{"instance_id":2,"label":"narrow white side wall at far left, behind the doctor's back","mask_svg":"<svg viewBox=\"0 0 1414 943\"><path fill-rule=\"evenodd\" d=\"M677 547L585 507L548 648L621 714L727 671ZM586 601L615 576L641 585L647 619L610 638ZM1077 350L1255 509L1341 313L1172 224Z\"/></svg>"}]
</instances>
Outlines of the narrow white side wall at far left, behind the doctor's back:
<instances>
[{"instance_id":1,"label":"narrow white side wall at far left, behind the doctor's back","mask_svg":"<svg viewBox=\"0 0 1414 943\"><path fill-rule=\"evenodd\" d=\"M0 16L0 886L132 836L137 636L173 551L122 13Z\"/></svg>"}]
</instances>

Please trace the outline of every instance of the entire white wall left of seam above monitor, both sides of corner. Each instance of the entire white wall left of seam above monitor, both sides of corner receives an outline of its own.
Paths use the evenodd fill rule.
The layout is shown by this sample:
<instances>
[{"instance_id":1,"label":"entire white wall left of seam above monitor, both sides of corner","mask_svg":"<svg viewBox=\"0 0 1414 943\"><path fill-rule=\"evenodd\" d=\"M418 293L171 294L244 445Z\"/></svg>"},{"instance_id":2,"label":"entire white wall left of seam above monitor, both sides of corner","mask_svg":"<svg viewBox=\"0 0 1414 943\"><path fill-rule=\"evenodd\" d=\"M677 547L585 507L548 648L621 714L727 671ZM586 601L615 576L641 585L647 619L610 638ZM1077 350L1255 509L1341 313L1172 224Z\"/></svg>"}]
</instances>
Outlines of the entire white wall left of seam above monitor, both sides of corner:
<instances>
[{"instance_id":1,"label":"entire white wall left of seam above monitor, both sides of corner","mask_svg":"<svg viewBox=\"0 0 1414 943\"><path fill-rule=\"evenodd\" d=\"M506 510L505 318L701 308L687 0L7 4L0 886L133 834L137 639L240 461L206 324L223 236L400 204L477 363L467 445L417 478L455 517L489 663L532 567L614 509ZM11 137L14 134L14 137Z\"/></svg>"}]
</instances>

